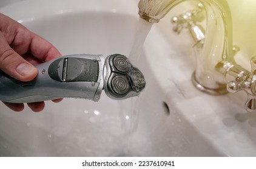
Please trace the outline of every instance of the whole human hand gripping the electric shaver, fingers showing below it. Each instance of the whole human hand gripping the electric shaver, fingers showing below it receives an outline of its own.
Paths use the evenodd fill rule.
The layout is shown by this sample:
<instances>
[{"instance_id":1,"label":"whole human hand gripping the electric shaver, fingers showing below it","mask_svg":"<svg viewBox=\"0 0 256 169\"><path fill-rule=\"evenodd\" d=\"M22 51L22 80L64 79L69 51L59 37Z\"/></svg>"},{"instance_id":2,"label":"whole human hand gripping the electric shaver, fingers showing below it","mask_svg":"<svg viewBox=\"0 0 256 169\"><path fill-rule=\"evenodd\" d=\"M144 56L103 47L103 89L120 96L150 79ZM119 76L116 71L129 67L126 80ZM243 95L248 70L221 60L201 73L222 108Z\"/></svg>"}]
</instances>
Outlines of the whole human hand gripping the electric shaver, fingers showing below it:
<instances>
[{"instance_id":1,"label":"whole human hand gripping the electric shaver, fingers showing below it","mask_svg":"<svg viewBox=\"0 0 256 169\"><path fill-rule=\"evenodd\" d=\"M58 56L61 54L51 43L0 13L0 69L6 74L21 81L33 80L38 74L33 65ZM17 112L24 109L22 103L4 104ZM44 101L27 104L34 112L44 109Z\"/></svg>"}]
</instances>

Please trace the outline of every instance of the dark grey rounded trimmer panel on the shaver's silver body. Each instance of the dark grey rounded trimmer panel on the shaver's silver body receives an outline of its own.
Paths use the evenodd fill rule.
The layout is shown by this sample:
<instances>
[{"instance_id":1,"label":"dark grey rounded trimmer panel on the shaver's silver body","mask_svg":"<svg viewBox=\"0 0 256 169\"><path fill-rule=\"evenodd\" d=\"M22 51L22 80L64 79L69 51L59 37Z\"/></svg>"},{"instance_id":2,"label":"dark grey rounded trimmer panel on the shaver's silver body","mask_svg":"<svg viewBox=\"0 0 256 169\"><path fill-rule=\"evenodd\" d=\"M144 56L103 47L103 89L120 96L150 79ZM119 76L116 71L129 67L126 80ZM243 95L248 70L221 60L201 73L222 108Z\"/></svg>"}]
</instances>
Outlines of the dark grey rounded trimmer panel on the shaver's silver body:
<instances>
[{"instance_id":1,"label":"dark grey rounded trimmer panel on the shaver's silver body","mask_svg":"<svg viewBox=\"0 0 256 169\"><path fill-rule=\"evenodd\" d=\"M48 69L49 76L56 81L97 81L97 60L64 57L55 60Z\"/></svg>"}]
</instances>

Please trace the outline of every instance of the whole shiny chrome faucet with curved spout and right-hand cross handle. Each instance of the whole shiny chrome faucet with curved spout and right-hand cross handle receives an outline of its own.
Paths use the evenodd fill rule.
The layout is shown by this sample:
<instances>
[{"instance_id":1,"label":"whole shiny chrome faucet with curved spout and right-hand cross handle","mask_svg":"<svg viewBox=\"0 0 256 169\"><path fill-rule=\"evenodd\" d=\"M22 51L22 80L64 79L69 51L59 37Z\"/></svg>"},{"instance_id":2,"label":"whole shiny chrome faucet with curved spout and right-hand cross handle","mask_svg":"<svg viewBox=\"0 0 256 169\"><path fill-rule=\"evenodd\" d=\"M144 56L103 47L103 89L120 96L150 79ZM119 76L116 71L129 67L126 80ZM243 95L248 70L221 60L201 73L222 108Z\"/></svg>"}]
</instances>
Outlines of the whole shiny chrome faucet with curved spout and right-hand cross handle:
<instances>
[{"instance_id":1,"label":"whole shiny chrome faucet with curved spout and right-hand cross handle","mask_svg":"<svg viewBox=\"0 0 256 169\"><path fill-rule=\"evenodd\" d=\"M173 7L188 0L140 0L140 18L158 23ZM192 83L202 92L223 95L228 92L246 91L245 109L256 110L256 57L251 59L251 72L238 65L234 56L238 52L232 44L232 18L226 0L198 0L206 11L206 31L189 22L190 33L196 43L197 66ZM177 17L172 21L177 24ZM176 31L180 31L176 27Z\"/></svg>"}]
</instances>

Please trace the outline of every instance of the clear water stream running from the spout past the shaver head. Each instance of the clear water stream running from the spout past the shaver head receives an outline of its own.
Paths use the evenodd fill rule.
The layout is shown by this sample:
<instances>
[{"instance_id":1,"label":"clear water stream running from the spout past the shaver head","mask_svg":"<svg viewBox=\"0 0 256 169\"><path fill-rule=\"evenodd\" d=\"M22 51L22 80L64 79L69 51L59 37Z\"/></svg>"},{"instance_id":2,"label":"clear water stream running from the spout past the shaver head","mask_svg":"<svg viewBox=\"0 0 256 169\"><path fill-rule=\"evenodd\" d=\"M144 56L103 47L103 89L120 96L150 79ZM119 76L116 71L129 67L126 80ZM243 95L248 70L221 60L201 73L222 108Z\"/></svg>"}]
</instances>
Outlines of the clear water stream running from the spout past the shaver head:
<instances>
[{"instance_id":1,"label":"clear water stream running from the spout past the shaver head","mask_svg":"<svg viewBox=\"0 0 256 169\"><path fill-rule=\"evenodd\" d=\"M135 37L132 49L130 50L129 60L133 66L139 69L140 67L138 66L140 65L139 60L141 56L141 51L143 50L144 42L146 40L147 34L152 28L152 25L152 23L144 21L144 19L141 18L138 19L138 24L136 25ZM132 97L128 98L127 100L120 101L121 120L124 129L124 139L126 139L126 143L124 146L124 153L126 155L130 155L129 151L132 135L136 130L136 126L138 126L138 114L140 113L140 110L138 110L138 104L140 102L139 100L142 94L143 91L138 97Z\"/></svg>"}]
</instances>

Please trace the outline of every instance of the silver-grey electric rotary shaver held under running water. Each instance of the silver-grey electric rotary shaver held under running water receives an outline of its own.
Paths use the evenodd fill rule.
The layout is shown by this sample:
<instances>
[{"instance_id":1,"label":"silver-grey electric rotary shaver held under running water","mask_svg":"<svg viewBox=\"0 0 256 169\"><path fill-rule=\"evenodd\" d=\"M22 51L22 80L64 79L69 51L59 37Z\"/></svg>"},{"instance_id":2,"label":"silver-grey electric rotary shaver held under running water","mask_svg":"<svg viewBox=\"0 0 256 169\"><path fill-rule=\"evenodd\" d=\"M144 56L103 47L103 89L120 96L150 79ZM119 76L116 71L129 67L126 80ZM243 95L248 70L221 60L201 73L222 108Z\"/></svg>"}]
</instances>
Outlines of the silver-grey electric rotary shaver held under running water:
<instances>
[{"instance_id":1,"label":"silver-grey electric rotary shaver held under running water","mask_svg":"<svg viewBox=\"0 0 256 169\"><path fill-rule=\"evenodd\" d=\"M77 54L36 65L32 81L19 81L0 71L0 100L32 103L56 98L85 98L98 101L101 92L115 100L140 95L146 82L126 56Z\"/></svg>"}]
</instances>

